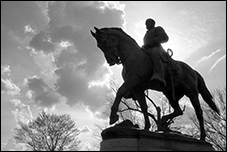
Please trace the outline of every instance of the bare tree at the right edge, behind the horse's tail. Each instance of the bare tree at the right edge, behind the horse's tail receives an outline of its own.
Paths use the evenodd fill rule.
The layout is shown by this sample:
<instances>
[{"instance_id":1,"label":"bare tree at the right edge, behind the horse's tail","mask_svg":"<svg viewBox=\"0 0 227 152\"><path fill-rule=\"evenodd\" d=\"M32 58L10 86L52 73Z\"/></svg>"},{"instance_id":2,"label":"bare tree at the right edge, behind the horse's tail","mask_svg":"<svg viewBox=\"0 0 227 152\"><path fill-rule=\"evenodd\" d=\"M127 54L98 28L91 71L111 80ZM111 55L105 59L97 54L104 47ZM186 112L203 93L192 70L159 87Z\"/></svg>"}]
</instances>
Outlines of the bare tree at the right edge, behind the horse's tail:
<instances>
[{"instance_id":1,"label":"bare tree at the right edge, behind the horse's tail","mask_svg":"<svg viewBox=\"0 0 227 152\"><path fill-rule=\"evenodd\" d=\"M213 92L216 103L219 104L220 115L211 110L208 105L203 105L204 126L207 134L206 140L210 142L215 150L226 151L226 88L216 89ZM191 118L195 127L190 130L194 137L199 137L199 124L193 115Z\"/></svg>"}]
</instances>

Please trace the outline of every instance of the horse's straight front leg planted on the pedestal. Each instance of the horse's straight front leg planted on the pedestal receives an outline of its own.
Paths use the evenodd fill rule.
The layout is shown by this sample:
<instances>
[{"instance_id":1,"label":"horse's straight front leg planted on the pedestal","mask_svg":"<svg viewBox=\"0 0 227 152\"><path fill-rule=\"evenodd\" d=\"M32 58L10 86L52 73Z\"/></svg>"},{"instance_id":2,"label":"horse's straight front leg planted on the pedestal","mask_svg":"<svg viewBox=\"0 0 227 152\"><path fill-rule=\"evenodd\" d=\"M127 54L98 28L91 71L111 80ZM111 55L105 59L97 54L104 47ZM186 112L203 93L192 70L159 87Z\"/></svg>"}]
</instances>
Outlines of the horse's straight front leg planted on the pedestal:
<instances>
[{"instance_id":1,"label":"horse's straight front leg planted on the pedestal","mask_svg":"<svg viewBox=\"0 0 227 152\"><path fill-rule=\"evenodd\" d=\"M151 127L151 124L150 124L150 120L149 120L149 117L148 117L147 103L146 103L144 92L136 93L136 98L137 98L137 100L140 104L141 110L143 112L144 121L145 121L144 129L149 130L150 127Z\"/></svg>"}]
</instances>

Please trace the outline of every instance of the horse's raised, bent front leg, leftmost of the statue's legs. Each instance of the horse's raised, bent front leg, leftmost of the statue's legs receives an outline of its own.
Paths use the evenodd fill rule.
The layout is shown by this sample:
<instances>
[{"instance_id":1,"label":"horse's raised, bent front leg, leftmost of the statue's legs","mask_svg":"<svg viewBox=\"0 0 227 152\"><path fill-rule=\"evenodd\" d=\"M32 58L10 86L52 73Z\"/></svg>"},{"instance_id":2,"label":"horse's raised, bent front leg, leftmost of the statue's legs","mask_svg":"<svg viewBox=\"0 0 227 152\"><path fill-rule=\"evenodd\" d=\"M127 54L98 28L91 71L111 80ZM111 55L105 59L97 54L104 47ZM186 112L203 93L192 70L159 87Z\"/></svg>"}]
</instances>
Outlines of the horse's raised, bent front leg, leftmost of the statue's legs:
<instances>
[{"instance_id":1,"label":"horse's raised, bent front leg, leftmost of the statue's legs","mask_svg":"<svg viewBox=\"0 0 227 152\"><path fill-rule=\"evenodd\" d=\"M121 98L128 93L129 90L131 90L133 87L135 87L139 83L139 78L137 76L133 76L130 79L126 80L121 87L118 89L116 98L114 100L114 103L111 107L111 113L110 113L110 122L109 124L112 125L116 121L118 121L119 116L117 115L118 107L121 102Z\"/></svg>"}]
</instances>

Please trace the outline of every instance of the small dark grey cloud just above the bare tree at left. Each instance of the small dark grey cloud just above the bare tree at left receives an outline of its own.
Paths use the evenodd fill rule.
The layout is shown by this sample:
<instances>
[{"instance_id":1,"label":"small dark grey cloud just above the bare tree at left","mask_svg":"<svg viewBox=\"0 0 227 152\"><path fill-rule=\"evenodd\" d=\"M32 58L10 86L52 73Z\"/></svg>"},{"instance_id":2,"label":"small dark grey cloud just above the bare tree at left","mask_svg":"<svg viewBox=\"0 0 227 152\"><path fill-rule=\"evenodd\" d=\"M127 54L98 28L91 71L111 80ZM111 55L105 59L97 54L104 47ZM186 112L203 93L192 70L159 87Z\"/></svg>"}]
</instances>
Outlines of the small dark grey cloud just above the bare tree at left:
<instances>
[{"instance_id":1,"label":"small dark grey cloud just above the bare tree at left","mask_svg":"<svg viewBox=\"0 0 227 152\"><path fill-rule=\"evenodd\" d=\"M25 84L29 89L29 97L35 101L36 105L51 107L59 102L60 96L42 78L37 76L27 78L25 79Z\"/></svg>"}]
</instances>

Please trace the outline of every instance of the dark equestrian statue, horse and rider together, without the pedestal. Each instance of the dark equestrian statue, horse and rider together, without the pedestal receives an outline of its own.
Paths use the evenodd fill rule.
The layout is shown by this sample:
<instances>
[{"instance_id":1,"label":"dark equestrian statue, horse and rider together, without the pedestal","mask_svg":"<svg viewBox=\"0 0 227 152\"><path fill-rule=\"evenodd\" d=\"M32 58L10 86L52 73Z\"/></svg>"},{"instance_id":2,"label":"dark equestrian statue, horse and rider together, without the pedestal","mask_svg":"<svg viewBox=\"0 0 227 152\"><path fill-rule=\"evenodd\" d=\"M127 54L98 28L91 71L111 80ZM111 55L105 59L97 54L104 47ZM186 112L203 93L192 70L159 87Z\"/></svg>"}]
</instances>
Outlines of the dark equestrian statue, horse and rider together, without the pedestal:
<instances>
[{"instance_id":1,"label":"dark equestrian statue, horse and rider together, without the pedestal","mask_svg":"<svg viewBox=\"0 0 227 152\"><path fill-rule=\"evenodd\" d=\"M98 48L104 53L110 66L122 64L123 84L116 93L111 107L109 124L118 121L118 107L121 98L136 99L141 107L145 126L150 129L148 106L145 99L145 90L152 89L162 92L174 111L162 117L161 122L167 121L183 114L179 106L179 100L186 95L194 109L200 125L200 140L205 141L203 113L198 95L201 94L204 101L219 114L219 109L213 101L213 97L206 87L203 77L188 64L171 58L171 50L167 52L161 43L168 41L168 36L160 26L155 27L153 19L146 20L148 29L144 36L144 45L140 47L137 42L126 34L121 28L94 27L95 32L90 31L97 41Z\"/></svg>"}]
</instances>

